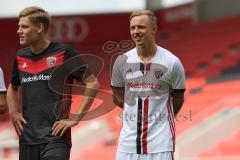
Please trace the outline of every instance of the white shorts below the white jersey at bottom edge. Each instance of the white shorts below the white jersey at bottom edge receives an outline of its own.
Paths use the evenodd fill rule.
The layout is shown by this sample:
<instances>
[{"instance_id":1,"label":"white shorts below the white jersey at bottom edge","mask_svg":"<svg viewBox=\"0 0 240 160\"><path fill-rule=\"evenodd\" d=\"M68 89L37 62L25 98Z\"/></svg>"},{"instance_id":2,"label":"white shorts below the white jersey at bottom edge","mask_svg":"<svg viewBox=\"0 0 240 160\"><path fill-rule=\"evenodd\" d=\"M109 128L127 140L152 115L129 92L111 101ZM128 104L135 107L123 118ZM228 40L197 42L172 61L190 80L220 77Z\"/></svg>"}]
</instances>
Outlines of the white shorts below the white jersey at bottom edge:
<instances>
[{"instance_id":1,"label":"white shorts below the white jersey at bottom edge","mask_svg":"<svg viewBox=\"0 0 240 160\"><path fill-rule=\"evenodd\" d=\"M174 160L173 152L135 154L117 152L116 160Z\"/></svg>"}]
</instances>

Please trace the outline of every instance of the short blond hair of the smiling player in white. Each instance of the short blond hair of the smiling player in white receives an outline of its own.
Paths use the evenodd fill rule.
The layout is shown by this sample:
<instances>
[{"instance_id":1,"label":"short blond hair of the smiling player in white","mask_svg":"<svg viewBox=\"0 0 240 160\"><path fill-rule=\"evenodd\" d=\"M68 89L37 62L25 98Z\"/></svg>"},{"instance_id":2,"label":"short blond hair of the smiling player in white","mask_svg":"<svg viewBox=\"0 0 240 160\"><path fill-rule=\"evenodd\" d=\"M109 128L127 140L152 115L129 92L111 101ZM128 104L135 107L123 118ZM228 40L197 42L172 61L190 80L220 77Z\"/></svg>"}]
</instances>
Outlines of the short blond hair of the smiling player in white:
<instances>
[{"instance_id":1,"label":"short blond hair of the smiling player in white","mask_svg":"<svg viewBox=\"0 0 240 160\"><path fill-rule=\"evenodd\" d=\"M136 17L136 16L142 16L142 15L147 15L148 18L149 18L149 22L150 22L150 25L152 27L156 26L157 25L157 17L155 16L155 14L150 11L150 10L138 10L138 11L134 11L130 17L129 17L129 20L131 21L131 19L133 17Z\"/></svg>"}]
</instances>

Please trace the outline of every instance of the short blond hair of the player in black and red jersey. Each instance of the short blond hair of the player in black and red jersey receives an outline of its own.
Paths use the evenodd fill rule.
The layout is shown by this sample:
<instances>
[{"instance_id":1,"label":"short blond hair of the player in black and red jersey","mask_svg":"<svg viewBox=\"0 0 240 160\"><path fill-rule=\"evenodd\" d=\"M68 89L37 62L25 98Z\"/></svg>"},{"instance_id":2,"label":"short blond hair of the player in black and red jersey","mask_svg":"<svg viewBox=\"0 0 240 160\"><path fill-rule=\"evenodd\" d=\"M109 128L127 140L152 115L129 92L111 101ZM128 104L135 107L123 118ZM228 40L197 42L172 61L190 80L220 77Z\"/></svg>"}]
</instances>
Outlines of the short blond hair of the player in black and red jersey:
<instances>
[{"instance_id":1,"label":"short blond hair of the player in black and red jersey","mask_svg":"<svg viewBox=\"0 0 240 160\"><path fill-rule=\"evenodd\" d=\"M44 9L37 6L24 8L19 13L19 19L22 17L28 17L30 22L33 24L42 24L44 31L47 33L51 23L51 18L48 12L46 12Z\"/></svg>"}]
</instances>

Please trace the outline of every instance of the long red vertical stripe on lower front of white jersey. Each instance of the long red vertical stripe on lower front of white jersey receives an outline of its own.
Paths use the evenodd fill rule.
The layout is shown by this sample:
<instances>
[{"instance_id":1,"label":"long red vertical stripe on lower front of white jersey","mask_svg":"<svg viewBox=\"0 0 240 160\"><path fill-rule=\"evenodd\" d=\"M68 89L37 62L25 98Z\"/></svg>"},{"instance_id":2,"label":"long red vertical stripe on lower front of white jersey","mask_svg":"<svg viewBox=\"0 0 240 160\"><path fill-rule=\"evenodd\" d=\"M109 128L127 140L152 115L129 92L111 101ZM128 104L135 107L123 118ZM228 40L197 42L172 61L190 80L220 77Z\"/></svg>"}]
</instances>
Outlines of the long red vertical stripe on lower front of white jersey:
<instances>
[{"instance_id":1,"label":"long red vertical stripe on lower front of white jersey","mask_svg":"<svg viewBox=\"0 0 240 160\"><path fill-rule=\"evenodd\" d=\"M143 135L142 135L142 146L143 154L147 154L147 131L148 131L148 97L144 100L144 124L143 124Z\"/></svg>"}]
</instances>

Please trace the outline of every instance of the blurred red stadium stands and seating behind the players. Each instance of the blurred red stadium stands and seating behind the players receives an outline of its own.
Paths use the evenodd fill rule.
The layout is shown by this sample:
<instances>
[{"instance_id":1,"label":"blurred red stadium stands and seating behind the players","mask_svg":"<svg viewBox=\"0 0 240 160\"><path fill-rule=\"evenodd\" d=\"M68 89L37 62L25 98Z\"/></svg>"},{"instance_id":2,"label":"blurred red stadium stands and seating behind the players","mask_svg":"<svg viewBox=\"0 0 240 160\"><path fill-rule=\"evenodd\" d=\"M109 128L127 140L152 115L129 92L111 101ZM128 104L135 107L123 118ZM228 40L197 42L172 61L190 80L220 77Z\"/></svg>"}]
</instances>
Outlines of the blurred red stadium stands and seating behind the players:
<instances>
[{"instance_id":1,"label":"blurred red stadium stands and seating behind the players","mask_svg":"<svg viewBox=\"0 0 240 160\"><path fill-rule=\"evenodd\" d=\"M0 66L6 85L21 48L18 12L38 5L52 15L52 41L72 44L81 55L103 60L103 66L95 66L102 67L98 78L104 93L95 108L111 101L114 57L134 47L130 13L154 11L157 44L179 57L187 77L185 103L176 117L175 159L240 160L240 0L0 0L0 4ZM88 63L95 61L90 58ZM74 110L81 97L73 98ZM114 160L121 118L121 109L112 107L74 127L71 160ZM0 116L0 159L18 159L18 138L7 114Z\"/></svg>"}]
</instances>

